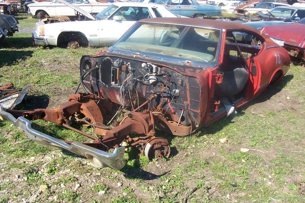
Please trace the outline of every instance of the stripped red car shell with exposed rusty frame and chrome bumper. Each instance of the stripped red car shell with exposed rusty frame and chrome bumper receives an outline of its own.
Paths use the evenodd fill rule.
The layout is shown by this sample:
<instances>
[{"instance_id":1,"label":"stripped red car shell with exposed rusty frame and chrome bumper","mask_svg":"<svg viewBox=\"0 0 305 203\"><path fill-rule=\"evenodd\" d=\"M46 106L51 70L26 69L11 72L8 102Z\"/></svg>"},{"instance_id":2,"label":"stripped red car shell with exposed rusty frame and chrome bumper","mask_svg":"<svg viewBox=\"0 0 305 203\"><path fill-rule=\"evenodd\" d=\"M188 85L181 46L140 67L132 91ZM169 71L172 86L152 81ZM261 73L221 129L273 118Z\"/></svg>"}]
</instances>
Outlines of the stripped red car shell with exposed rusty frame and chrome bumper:
<instances>
[{"instance_id":1,"label":"stripped red car shell with exposed rusty frame and chrome bumper","mask_svg":"<svg viewBox=\"0 0 305 203\"><path fill-rule=\"evenodd\" d=\"M251 45L254 39L261 46ZM289 64L283 47L249 26L143 19L108 50L81 58L80 81L66 104L55 110L0 108L0 115L39 144L120 170L125 164L123 140L149 159L169 157L169 142L155 137L155 126L172 135L189 135L258 96L285 75ZM77 93L80 86L85 93ZM107 125L106 115L118 120ZM94 142L59 140L36 131L30 120L37 119L61 124ZM75 129L75 122L95 127L96 135Z\"/></svg>"}]
</instances>

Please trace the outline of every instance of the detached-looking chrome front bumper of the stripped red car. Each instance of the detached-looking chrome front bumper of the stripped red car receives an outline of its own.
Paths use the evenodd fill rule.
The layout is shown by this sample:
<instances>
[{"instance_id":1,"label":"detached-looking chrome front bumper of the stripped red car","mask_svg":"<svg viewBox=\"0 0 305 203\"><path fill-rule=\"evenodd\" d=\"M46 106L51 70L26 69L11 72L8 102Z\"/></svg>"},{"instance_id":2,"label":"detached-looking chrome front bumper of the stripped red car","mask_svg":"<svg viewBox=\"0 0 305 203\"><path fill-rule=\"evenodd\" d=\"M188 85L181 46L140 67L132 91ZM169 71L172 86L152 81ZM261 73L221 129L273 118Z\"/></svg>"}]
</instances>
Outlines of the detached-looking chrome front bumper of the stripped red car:
<instances>
[{"instance_id":1,"label":"detached-looking chrome front bumper of the stripped red car","mask_svg":"<svg viewBox=\"0 0 305 203\"><path fill-rule=\"evenodd\" d=\"M31 127L31 122L23 117L15 118L12 114L5 111L5 108L0 106L0 119L8 120L22 131L28 138L37 142L40 145L59 147L61 149L69 150L80 156L87 157L93 166L104 168L110 167L114 170L120 170L124 167L125 162L123 160L125 147L121 146L115 148L112 153L108 153L81 142L74 141L71 144L67 144L52 136L46 135L42 132L34 130Z\"/></svg>"}]
</instances>

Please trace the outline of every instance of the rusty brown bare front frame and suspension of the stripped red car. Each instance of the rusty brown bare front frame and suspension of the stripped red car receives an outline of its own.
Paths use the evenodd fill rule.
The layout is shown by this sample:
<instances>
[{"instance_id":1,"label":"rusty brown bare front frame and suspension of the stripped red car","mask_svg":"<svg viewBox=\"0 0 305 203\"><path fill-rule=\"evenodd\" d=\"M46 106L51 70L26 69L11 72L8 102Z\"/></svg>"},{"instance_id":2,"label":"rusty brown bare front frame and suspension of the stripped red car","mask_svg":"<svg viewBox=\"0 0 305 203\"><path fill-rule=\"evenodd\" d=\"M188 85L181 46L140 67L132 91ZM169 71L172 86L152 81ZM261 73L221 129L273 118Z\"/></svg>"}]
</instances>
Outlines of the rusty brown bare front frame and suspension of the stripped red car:
<instances>
[{"instance_id":1,"label":"rusty brown bare front frame and suspension of the stripped red car","mask_svg":"<svg viewBox=\"0 0 305 203\"><path fill-rule=\"evenodd\" d=\"M84 143L86 145L101 149L103 151L108 151L110 148L118 147L121 142L126 140L129 143L129 146L135 147L141 145L141 148L144 149L145 146L149 146L149 159L155 157L168 157L169 156L169 145L167 140L163 138L160 143L163 144L154 144L155 141L155 119L158 119L158 116L153 115L149 110L144 110L142 112L136 112L141 107L145 106L147 103L150 103L153 99L156 98L156 95L152 95L149 99L142 103L138 108L128 113L127 117L120 119L119 121L114 122L113 126L106 126L103 124L103 115L111 112L112 104L106 100L97 98L94 94L85 94L77 93L72 94L68 102L62 106L50 110L50 109L36 109L31 111L17 111L17 110L7 110L14 117L25 117L28 120L45 120L50 121L56 124L61 124L65 128L73 130L81 135L84 135L88 138L91 138L93 143ZM87 134L83 131L80 131L76 128L70 126L72 122L81 122L88 124L95 128L95 133L100 135L100 137L95 137L93 135ZM118 125L116 125L118 123ZM136 132L141 136L139 138L132 139L128 135L131 132ZM70 141L62 140L66 143L71 143ZM151 142L151 144L149 144ZM159 143L159 142L158 142ZM163 146L164 145L164 146ZM152 149L151 146L153 146ZM159 148L160 149L159 150ZM158 155L155 155L155 150ZM166 150L164 150L166 149ZM151 150L153 152L151 152ZM144 150L142 150L144 153ZM146 155L145 155L146 156Z\"/></svg>"}]
</instances>

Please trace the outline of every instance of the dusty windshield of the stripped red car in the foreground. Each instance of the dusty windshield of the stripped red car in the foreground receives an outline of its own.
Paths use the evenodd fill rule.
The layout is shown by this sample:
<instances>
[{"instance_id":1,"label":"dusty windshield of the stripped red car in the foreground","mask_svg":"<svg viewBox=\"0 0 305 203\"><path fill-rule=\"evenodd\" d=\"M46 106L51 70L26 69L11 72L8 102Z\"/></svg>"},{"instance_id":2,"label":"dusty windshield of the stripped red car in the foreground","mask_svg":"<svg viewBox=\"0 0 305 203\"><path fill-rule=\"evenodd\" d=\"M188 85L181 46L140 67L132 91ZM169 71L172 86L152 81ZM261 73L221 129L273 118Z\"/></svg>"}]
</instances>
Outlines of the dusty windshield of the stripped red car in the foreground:
<instances>
[{"instance_id":1,"label":"dusty windshield of the stripped red car in the foreground","mask_svg":"<svg viewBox=\"0 0 305 203\"><path fill-rule=\"evenodd\" d=\"M217 61L219 35L220 30L212 28L138 22L108 50L211 67Z\"/></svg>"}]
</instances>

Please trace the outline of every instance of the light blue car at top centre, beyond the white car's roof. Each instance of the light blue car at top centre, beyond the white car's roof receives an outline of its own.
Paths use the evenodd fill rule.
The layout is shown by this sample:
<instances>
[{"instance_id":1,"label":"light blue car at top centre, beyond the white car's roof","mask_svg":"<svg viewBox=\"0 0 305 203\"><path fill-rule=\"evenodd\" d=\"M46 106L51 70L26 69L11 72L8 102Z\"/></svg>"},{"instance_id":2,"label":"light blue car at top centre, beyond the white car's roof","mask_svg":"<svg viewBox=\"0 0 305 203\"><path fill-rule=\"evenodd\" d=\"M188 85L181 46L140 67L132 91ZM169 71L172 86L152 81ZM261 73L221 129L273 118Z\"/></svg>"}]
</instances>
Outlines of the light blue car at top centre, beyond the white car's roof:
<instances>
[{"instance_id":1,"label":"light blue car at top centre, beyond the white car's roof","mask_svg":"<svg viewBox=\"0 0 305 203\"><path fill-rule=\"evenodd\" d=\"M157 0L157 4L166 5L174 13L192 18L219 16L221 6L199 5L196 0Z\"/></svg>"}]
</instances>

